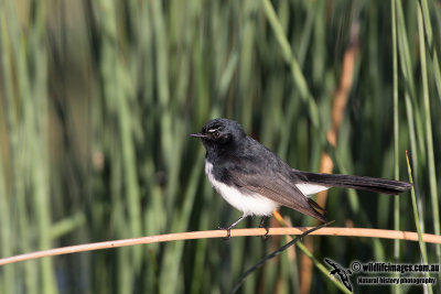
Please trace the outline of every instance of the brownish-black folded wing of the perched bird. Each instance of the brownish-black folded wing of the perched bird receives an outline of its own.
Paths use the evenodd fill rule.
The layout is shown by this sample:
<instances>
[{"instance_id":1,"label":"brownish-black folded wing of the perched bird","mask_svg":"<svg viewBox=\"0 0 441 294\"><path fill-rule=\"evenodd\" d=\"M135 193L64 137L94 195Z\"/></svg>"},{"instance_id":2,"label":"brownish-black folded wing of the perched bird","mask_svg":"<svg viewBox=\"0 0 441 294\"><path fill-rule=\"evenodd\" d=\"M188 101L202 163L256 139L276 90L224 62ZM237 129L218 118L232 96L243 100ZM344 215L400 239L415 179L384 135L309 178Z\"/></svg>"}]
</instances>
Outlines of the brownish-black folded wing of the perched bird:
<instances>
[{"instance_id":1,"label":"brownish-black folded wing of the perched bird","mask_svg":"<svg viewBox=\"0 0 441 294\"><path fill-rule=\"evenodd\" d=\"M270 160L268 160L270 159ZM291 167L279 159L236 159L233 166L225 168L224 176L245 192L258 193L280 205L326 222L321 208L314 200L304 196L290 176ZM261 160L261 159L260 159Z\"/></svg>"}]
</instances>

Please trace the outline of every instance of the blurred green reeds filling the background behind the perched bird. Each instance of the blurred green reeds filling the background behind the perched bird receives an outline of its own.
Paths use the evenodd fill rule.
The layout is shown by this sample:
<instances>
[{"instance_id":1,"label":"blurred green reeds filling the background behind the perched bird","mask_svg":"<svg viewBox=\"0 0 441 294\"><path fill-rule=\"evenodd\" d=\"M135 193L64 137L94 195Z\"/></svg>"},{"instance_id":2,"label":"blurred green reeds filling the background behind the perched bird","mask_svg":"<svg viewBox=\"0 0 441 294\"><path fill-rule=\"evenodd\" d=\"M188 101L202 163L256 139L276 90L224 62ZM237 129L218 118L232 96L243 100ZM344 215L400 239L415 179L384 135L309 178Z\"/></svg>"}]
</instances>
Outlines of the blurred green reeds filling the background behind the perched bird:
<instances>
[{"instance_id":1,"label":"blurred green reeds filling the background behind the perched bird","mask_svg":"<svg viewBox=\"0 0 441 294\"><path fill-rule=\"evenodd\" d=\"M318 172L326 152L334 173L408 181L408 150L421 228L439 233L440 4L0 0L1 257L233 222L240 213L209 186L202 144L189 137L215 117L237 120L299 170ZM349 47L353 80L333 148L325 134ZM410 193L331 189L325 208L336 227L416 231ZM294 226L315 224L281 213ZM239 227L257 226L250 218ZM209 239L45 258L2 266L0 292L225 293L284 242ZM427 250L439 263L439 247ZM300 293L297 253L268 262L240 292ZM343 266L421 262L410 241L394 249L392 240L314 237L313 253ZM356 292L421 291L353 281ZM310 288L340 292L315 269Z\"/></svg>"}]
</instances>

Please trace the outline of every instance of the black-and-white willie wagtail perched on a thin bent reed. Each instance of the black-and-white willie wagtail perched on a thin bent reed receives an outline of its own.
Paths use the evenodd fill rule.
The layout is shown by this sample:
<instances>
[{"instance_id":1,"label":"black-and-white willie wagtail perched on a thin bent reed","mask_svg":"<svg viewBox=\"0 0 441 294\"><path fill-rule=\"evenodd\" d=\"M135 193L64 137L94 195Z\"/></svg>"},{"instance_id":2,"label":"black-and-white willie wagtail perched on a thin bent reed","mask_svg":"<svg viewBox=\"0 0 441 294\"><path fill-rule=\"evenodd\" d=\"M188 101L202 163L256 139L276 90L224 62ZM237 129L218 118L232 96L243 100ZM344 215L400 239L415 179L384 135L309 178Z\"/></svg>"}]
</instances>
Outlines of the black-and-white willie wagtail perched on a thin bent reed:
<instances>
[{"instance_id":1,"label":"black-and-white willie wagtail perched on a thin bent reed","mask_svg":"<svg viewBox=\"0 0 441 294\"><path fill-rule=\"evenodd\" d=\"M248 137L239 123L224 118L208 121L201 132L191 135L200 138L206 149L205 174L212 186L225 200L244 213L237 221L223 228L227 230L227 238L230 229L247 216L268 217L279 206L287 206L325 222L324 209L309 196L331 187L390 195L411 187L410 183L394 179L294 170Z\"/></svg>"}]
</instances>

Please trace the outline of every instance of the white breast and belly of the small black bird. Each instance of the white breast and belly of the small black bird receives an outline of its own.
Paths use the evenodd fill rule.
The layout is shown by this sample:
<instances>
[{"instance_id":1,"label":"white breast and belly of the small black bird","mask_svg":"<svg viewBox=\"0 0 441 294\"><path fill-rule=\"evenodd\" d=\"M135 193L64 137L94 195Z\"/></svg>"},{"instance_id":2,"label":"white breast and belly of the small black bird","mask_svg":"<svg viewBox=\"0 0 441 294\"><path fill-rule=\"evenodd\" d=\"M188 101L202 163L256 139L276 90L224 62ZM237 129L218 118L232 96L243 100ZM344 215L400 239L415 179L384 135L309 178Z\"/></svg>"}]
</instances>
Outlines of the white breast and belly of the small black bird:
<instances>
[{"instance_id":1,"label":"white breast and belly of the small black bird","mask_svg":"<svg viewBox=\"0 0 441 294\"><path fill-rule=\"evenodd\" d=\"M257 193L244 193L236 187L227 186L214 178L213 164L205 160L205 174L212 186L220 196L245 216L270 216L279 204Z\"/></svg>"}]
</instances>

